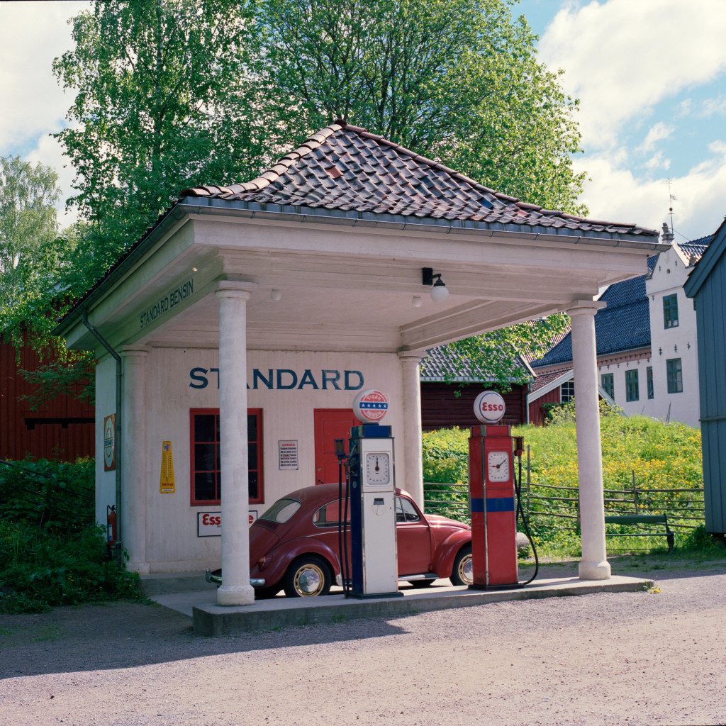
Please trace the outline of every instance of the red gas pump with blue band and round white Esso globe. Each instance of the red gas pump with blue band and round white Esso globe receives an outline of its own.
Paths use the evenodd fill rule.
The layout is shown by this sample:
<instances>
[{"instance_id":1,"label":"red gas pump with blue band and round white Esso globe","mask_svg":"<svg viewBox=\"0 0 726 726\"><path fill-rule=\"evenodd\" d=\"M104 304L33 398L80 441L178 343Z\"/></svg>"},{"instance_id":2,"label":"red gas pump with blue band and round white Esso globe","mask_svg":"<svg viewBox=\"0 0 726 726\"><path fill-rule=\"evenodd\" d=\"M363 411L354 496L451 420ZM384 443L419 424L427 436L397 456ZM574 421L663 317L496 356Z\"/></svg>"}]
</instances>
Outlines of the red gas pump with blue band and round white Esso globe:
<instances>
[{"instance_id":1,"label":"red gas pump with blue band and round white Esso globe","mask_svg":"<svg viewBox=\"0 0 726 726\"><path fill-rule=\"evenodd\" d=\"M521 587L517 571L517 517L511 427L497 425L505 403L496 391L474 401L483 425L469 439L473 590Z\"/></svg>"}]
</instances>

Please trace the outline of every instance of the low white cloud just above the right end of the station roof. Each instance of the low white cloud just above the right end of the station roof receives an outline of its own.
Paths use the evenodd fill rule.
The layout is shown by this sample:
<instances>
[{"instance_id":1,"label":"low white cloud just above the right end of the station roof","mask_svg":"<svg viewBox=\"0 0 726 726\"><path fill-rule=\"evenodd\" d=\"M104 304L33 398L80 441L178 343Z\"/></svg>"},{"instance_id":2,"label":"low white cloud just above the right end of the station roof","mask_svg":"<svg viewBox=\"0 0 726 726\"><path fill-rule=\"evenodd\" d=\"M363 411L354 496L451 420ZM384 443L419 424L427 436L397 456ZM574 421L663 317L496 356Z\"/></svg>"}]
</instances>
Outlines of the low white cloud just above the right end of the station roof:
<instances>
[{"instance_id":1,"label":"low white cloud just above the right end of the station roof","mask_svg":"<svg viewBox=\"0 0 726 726\"><path fill-rule=\"evenodd\" d=\"M726 143L709 145L711 157L672 179L673 221L677 232L690 240L714 232L726 214ZM660 229L669 219L669 188L665 179L643 181L632 171L619 168L612 158L593 155L579 158L576 171L587 170L581 201L593 219L636 222L641 227ZM677 239L682 240L682 237Z\"/></svg>"}]
</instances>

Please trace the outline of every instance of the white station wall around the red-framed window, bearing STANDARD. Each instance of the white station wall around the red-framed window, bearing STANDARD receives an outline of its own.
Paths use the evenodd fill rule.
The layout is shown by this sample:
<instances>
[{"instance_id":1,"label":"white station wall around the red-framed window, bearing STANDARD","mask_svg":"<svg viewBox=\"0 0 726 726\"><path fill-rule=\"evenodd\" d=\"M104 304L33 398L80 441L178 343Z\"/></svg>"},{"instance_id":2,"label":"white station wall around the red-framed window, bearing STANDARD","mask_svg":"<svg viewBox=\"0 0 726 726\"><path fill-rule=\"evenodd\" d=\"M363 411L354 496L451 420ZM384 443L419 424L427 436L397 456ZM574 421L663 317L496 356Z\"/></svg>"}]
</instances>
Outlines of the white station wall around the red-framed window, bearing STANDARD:
<instances>
[{"instance_id":1,"label":"white station wall around the red-framed window, bearing STANDARD","mask_svg":"<svg viewBox=\"0 0 726 726\"><path fill-rule=\"evenodd\" d=\"M131 457L145 455L146 458L146 556L150 571L217 567L221 557L221 540L219 537L197 537L197 512L219 511L219 507L189 504L189 409L219 407L217 373L211 370L218 367L218 353L202 348L151 348L146 365L145 452L125 454ZM291 370L297 376L297 386L287 390L267 390L258 383L254 388L254 369L265 376L271 369ZM192 370L193 377L190 375ZM394 437L399 437L395 444L396 482L405 486L401 362L396 354L248 351L248 370L248 406L262 409L264 454L264 504L250 505L251 510L261 514L283 494L315 483L314 409L351 408L360 381L357 375L351 373L349 383L356 390L345 390L346 370L361 372L363 388L379 388L388 393L391 411L383 423L392 427ZM308 377L305 377L306 370L310 371ZM325 382L324 370L329 372ZM333 385L336 371L340 372L340 390ZM277 378L277 374L273 375ZM113 412L114 376L113 360L110 364L99 364L99 451L102 451L103 417L107 415L106 411ZM205 380L207 383L203 386ZM293 378L284 373L282 380L290 385ZM298 470L279 469L278 441L287 439L298 441ZM159 492L163 441L171 441L172 444L174 494ZM106 505L113 504L115 476L113 472L103 471L102 457L97 457L97 483L97 516L100 522L105 522Z\"/></svg>"}]
</instances>

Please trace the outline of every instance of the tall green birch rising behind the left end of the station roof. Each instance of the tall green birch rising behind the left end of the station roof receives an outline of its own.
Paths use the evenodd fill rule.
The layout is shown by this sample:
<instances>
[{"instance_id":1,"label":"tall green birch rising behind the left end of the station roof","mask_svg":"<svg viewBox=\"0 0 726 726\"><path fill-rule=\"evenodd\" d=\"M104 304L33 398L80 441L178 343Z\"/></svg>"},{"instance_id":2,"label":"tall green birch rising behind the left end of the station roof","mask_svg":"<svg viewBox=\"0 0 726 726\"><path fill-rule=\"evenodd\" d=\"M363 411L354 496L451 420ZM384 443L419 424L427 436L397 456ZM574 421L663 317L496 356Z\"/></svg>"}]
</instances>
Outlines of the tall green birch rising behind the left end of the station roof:
<instances>
[{"instance_id":1,"label":"tall green birch rising behind the left end of the station roof","mask_svg":"<svg viewBox=\"0 0 726 726\"><path fill-rule=\"evenodd\" d=\"M53 70L77 94L56 137L108 265L179 189L257 171L253 20L243 0L111 0L70 22Z\"/></svg>"}]
</instances>

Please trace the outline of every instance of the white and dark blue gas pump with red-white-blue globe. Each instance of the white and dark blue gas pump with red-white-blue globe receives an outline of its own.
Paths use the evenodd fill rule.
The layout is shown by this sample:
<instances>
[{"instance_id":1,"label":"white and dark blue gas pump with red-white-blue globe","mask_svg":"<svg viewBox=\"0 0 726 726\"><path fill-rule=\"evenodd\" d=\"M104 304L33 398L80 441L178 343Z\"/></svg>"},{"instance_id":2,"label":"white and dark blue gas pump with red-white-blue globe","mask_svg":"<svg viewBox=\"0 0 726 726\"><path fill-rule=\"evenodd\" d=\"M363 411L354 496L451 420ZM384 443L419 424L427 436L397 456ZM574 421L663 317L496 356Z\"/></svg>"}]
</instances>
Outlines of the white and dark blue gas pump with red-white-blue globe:
<instances>
[{"instance_id":1,"label":"white and dark blue gas pump with red-white-blue globe","mask_svg":"<svg viewBox=\"0 0 726 726\"><path fill-rule=\"evenodd\" d=\"M351 597L396 597L396 482L391 427L378 423L388 411L388 396L361 391L353 412L361 425L348 442L348 492L351 501Z\"/></svg>"}]
</instances>

